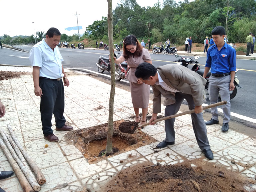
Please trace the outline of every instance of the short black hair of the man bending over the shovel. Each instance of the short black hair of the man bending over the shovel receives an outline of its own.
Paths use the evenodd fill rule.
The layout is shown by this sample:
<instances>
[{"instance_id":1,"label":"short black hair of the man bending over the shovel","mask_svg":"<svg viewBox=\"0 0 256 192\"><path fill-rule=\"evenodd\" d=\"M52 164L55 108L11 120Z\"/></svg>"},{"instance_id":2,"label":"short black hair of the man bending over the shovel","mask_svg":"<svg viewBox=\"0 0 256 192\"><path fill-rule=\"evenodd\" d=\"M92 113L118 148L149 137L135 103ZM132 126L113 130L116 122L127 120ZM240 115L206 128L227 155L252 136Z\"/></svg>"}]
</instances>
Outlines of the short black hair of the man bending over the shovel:
<instances>
[{"instance_id":1,"label":"short black hair of the man bending over the shovel","mask_svg":"<svg viewBox=\"0 0 256 192\"><path fill-rule=\"evenodd\" d=\"M156 73L157 68L148 62L140 63L135 70L135 76L143 80L147 80L150 76L155 76Z\"/></svg>"}]
</instances>

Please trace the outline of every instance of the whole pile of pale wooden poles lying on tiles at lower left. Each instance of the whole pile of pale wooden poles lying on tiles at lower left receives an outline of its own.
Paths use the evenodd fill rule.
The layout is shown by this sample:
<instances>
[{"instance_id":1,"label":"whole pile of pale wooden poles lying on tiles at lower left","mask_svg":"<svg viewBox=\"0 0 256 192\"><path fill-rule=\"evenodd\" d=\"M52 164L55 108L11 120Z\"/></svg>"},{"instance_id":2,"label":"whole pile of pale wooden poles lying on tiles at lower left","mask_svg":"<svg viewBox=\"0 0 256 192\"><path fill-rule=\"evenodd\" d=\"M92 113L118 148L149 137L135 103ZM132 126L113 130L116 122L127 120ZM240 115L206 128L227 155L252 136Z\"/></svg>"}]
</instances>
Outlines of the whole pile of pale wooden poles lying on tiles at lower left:
<instances>
[{"instance_id":1,"label":"whole pile of pale wooden poles lying on tiles at lower left","mask_svg":"<svg viewBox=\"0 0 256 192\"><path fill-rule=\"evenodd\" d=\"M7 128L11 137L0 128L0 133L4 140L3 141L0 138L0 146L11 164L13 171L18 177L25 192L40 191L40 185L46 182L44 174L20 144L11 126L7 125ZM32 173L30 167L34 171L36 177Z\"/></svg>"}]
</instances>

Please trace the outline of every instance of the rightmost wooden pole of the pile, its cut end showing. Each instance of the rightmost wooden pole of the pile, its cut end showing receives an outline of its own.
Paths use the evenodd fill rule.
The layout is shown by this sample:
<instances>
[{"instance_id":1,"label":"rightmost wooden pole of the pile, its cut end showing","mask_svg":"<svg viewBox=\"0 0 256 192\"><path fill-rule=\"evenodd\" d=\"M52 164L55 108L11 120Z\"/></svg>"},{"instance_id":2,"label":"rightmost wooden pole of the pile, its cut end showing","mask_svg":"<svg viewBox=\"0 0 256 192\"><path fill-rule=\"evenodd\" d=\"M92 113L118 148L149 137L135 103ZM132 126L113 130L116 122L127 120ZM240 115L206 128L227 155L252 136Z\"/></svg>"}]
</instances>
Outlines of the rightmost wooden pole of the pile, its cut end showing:
<instances>
[{"instance_id":1,"label":"rightmost wooden pole of the pile, its cut end showing","mask_svg":"<svg viewBox=\"0 0 256 192\"><path fill-rule=\"evenodd\" d=\"M40 168L37 166L37 164L35 163L35 161L33 161L33 159L29 156L28 152L23 148L23 146L20 144L19 140L17 139L17 137L15 136L15 133L13 132L12 128L10 125L7 125L7 128L12 136L13 141L16 143L16 145L19 147L21 153L23 154L23 156L25 157L25 159L28 161L30 167L32 168L32 170L34 171L34 173L36 174L37 177L37 181L40 185L43 185L46 182L45 176L42 173L42 171L40 170Z\"/></svg>"}]
</instances>

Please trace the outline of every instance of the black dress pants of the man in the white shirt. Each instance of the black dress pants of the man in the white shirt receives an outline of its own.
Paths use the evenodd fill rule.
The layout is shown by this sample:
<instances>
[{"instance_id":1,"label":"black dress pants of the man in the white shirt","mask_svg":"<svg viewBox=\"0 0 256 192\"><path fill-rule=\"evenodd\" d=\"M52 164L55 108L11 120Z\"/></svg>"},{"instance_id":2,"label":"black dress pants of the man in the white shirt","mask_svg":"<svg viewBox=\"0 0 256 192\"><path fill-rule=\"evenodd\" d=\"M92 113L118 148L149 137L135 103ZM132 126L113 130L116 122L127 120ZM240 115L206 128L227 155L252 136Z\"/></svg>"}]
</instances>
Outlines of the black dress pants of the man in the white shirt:
<instances>
[{"instance_id":1,"label":"black dress pants of the man in the white shirt","mask_svg":"<svg viewBox=\"0 0 256 192\"><path fill-rule=\"evenodd\" d=\"M48 136L53 133L52 117L54 114L57 128L65 125L64 113L64 86L62 79L60 81L39 78L39 86L42 89L40 103L41 121L43 134Z\"/></svg>"}]
</instances>

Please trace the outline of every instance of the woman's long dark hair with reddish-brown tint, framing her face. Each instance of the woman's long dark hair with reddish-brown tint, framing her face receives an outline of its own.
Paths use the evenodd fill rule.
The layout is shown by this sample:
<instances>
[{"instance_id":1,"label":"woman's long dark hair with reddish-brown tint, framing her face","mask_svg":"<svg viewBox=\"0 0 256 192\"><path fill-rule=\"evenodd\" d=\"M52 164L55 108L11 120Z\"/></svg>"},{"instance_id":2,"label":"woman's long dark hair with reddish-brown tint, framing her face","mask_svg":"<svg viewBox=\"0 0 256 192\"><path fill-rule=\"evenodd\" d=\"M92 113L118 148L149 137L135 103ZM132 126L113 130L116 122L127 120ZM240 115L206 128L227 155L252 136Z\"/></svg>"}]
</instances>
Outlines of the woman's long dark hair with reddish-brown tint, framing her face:
<instances>
[{"instance_id":1,"label":"woman's long dark hair with reddish-brown tint, framing her face","mask_svg":"<svg viewBox=\"0 0 256 192\"><path fill-rule=\"evenodd\" d=\"M137 46L136 51L134 53L131 53L130 51L126 50L126 46L128 45L134 45ZM137 55L140 56L142 52L142 46L141 43L138 41L138 39L135 37L135 35L128 35L126 38L124 38L124 45L123 45L123 56L124 58L128 58L130 55Z\"/></svg>"}]
</instances>

